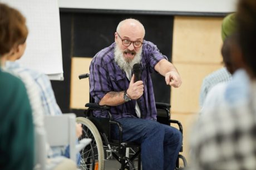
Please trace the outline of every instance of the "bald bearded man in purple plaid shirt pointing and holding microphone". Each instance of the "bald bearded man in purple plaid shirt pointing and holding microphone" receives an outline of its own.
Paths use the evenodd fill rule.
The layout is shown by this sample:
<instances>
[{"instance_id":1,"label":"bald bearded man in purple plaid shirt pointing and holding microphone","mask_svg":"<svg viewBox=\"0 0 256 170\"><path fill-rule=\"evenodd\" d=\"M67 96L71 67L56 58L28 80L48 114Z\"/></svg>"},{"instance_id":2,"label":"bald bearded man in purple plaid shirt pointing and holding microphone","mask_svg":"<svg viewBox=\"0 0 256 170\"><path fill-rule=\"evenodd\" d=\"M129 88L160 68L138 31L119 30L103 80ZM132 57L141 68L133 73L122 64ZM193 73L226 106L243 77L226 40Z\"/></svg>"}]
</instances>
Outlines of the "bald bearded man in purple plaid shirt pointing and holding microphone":
<instances>
[{"instance_id":1,"label":"bald bearded man in purple plaid shirt pointing and holding microphone","mask_svg":"<svg viewBox=\"0 0 256 170\"><path fill-rule=\"evenodd\" d=\"M111 106L112 119L123 127L122 140L141 145L144 169L174 169L182 135L174 127L156 121L156 106L150 74L165 77L166 85L179 87L181 78L156 45L144 40L144 26L136 19L122 20L115 42L97 53L90 65L90 93L95 102ZM135 82L133 65L140 64L141 80ZM95 111L107 117L105 111ZM119 138L117 127L112 137Z\"/></svg>"}]
</instances>

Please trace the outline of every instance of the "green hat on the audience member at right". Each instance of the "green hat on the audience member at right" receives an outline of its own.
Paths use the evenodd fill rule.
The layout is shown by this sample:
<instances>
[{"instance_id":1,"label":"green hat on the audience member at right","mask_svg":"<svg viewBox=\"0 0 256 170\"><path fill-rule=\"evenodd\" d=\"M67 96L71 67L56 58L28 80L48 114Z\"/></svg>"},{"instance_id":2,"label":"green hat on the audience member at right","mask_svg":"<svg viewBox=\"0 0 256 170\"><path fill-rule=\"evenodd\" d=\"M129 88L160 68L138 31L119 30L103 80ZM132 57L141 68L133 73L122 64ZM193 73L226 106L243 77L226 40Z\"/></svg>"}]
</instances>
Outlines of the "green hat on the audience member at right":
<instances>
[{"instance_id":1,"label":"green hat on the audience member at right","mask_svg":"<svg viewBox=\"0 0 256 170\"><path fill-rule=\"evenodd\" d=\"M221 25L221 38L224 42L224 40L235 32L235 29L237 28L237 21L235 20L235 13L228 14L223 19L222 25Z\"/></svg>"}]
</instances>

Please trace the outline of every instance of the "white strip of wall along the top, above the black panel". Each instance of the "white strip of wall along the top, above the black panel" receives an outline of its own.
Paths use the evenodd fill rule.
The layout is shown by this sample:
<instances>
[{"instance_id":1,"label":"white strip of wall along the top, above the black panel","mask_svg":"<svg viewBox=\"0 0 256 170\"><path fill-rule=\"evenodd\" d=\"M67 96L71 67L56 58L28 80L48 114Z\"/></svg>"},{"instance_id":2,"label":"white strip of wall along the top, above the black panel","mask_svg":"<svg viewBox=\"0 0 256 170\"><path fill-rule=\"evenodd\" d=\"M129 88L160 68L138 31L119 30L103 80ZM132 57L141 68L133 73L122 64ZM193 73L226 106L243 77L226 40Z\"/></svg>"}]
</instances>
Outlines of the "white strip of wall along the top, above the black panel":
<instances>
[{"instance_id":1,"label":"white strip of wall along the top, above the black panel","mask_svg":"<svg viewBox=\"0 0 256 170\"><path fill-rule=\"evenodd\" d=\"M169 12L234 12L237 0L58 0L60 8Z\"/></svg>"}]
</instances>

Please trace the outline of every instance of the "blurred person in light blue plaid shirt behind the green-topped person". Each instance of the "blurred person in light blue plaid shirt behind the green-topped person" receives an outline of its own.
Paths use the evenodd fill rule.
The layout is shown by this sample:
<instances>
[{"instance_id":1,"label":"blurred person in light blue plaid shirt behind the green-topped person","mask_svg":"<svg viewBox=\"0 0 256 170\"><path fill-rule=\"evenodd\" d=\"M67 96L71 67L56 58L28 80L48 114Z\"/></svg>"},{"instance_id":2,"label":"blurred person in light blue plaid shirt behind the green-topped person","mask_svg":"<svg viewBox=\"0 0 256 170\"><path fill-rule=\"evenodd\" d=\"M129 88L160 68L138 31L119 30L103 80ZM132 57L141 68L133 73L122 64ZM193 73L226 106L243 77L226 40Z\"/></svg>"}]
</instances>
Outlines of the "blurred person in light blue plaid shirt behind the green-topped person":
<instances>
[{"instance_id":1,"label":"blurred person in light blue plaid shirt behind the green-topped person","mask_svg":"<svg viewBox=\"0 0 256 170\"><path fill-rule=\"evenodd\" d=\"M1 4L1 6L2 9L8 8L4 4ZM26 50L26 39L28 35L26 18L24 18L24 16L14 8L8 8L8 12L3 13L3 16L8 22L12 22L13 18L10 16L14 16L14 18L20 20L19 26L23 28L24 32L26 32L26 34L19 35L22 40L17 42L16 48L13 49L11 54L6 56L7 61L4 65L4 70L17 76L23 81L32 109L33 125L35 130L45 131L44 115L61 115L62 112L60 107L57 105L50 80L47 76L38 71L25 68L16 61L23 56L24 51ZM77 129L81 129L81 126L77 126ZM79 137L81 135L81 130L76 132L78 132L77 137ZM68 167L70 167L70 169L76 169L76 166L73 166L73 162L70 159L67 159L69 158L69 150L67 150L68 147L50 148L48 142L46 143L46 146L48 147L47 169L58 169L60 168L59 166L62 167L63 164L66 166L65 169L68 169ZM77 157L80 158L80 155ZM80 162L78 161L78 163Z\"/></svg>"}]
</instances>

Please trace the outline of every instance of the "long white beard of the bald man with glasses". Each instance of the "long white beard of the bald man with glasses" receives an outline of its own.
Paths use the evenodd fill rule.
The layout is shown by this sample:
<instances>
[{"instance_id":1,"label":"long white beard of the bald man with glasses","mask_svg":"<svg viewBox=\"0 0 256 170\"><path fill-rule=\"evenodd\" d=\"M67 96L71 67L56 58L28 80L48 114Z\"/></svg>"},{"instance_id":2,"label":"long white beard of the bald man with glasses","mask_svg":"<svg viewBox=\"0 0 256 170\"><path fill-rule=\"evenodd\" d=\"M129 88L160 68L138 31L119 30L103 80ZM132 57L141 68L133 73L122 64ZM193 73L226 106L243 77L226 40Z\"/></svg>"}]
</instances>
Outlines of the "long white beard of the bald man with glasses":
<instances>
[{"instance_id":1,"label":"long white beard of the bald man with glasses","mask_svg":"<svg viewBox=\"0 0 256 170\"><path fill-rule=\"evenodd\" d=\"M119 65L119 67L124 70L125 72L130 72L134 64L140 63L141 61L141 53L142 53L142 48L135 54L134 59L131 61L126 61L124 59L124 51L122 51L119 47L115 47L115 61L116 64Z\"/></svg>"}]
</instances>

